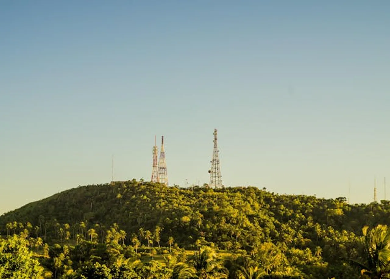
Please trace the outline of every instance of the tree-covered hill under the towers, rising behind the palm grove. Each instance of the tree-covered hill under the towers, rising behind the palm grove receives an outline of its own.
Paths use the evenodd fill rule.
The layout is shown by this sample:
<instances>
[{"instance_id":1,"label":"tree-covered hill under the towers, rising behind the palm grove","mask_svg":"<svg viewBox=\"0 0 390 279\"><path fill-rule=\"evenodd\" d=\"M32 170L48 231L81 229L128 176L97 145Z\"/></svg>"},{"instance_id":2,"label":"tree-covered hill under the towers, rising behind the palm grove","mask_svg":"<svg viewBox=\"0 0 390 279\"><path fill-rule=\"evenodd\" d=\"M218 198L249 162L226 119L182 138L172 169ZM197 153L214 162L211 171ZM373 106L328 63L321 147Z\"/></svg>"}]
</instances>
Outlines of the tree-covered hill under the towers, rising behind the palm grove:
<instances>
[{"instance_id":1,"label":"tree-covered hill under the towers, rising behind the palm grove","mask_svg":"<svg viewBox=\"0 0 390 279\"><path fill-rule=\"evenodd\" d=\"M387 224L389 217L388 201L350 205L341 197L278 195L256 187L178 188L132 180L66 190L3 214L0 226L4 230L7 222L31 222L51 231L57 222L84 221L117 223L126 231L137 231L160 225L163 235L176 236L183 243L195 241L200 234L222 243L237 234L273 239L287 224L318 223L360 235L364 225Z\"/></svg>"}]
</instances>

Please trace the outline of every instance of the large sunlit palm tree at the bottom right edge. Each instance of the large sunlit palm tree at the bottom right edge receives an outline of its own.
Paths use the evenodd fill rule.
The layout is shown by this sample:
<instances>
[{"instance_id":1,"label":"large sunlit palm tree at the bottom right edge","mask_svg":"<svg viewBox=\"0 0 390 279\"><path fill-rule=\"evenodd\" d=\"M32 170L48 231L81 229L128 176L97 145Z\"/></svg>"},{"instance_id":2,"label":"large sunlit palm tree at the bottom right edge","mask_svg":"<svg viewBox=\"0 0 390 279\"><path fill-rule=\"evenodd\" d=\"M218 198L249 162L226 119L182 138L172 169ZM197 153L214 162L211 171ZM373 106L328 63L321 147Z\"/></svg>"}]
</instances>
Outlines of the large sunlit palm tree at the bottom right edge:
<instances>
[{"instance_id":1,"label":"large sunlit palm tree at the bottom right edge","mask_svg":"<svg viewBox=\"0 0 390 279\"><path fill-rule=\"evenodd\" d=\"M352 262L361 268L361 273L371 279L386 278L390 274L390 230L378 225L371 230L363 227L364 250L367 263Z\"/></svg>"}]
</instances>

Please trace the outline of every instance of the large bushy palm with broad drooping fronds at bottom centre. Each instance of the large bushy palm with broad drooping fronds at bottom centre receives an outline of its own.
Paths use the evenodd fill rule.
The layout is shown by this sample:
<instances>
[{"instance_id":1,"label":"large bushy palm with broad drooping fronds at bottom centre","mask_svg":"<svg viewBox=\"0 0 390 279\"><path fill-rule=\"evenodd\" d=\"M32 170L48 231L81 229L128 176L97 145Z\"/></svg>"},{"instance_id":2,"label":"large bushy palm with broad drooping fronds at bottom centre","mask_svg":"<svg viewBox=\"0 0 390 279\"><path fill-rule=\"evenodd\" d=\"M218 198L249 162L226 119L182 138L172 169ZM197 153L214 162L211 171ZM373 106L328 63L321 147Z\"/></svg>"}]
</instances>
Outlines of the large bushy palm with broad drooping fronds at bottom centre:
<instances>
[{"instance_id":1,"label":"large bushy palm with broad drooping fronds at bottom centre","mask_svg":"<svg viewBox=\"0 0 390 279\"><path fill-rule=\"evenodd\" d=\"M201 279L225 279L228 277L229 272L211 247L200 248L192 256L190 262Z\"/></svg>"}]
</instances>

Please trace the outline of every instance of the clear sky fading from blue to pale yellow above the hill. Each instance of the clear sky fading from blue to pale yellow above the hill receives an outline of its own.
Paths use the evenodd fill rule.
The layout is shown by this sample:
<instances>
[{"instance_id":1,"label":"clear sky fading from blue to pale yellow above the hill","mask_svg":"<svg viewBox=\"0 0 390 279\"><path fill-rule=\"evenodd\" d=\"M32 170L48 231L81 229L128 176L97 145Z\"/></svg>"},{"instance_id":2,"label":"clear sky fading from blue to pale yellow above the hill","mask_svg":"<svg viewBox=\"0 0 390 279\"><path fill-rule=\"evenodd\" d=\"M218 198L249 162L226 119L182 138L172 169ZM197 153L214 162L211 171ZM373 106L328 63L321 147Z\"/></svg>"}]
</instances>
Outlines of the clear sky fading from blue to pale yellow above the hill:
<instances>
[{"instance_id":1,"label":"clear sky fading from blue to pale yellow above the hill","mask_svg":"<svg viewBox=\"0 0 390 279\"><path fill-rule=\"evenodd\" d=\"M372 200L390 186L389 1L0 3L0 213L62 190L222 179ZM160 141L160 140L159 140ZM160 144L159 144L160 145ZM388 190L390 197L390 187Z\"/></svg>"}]
</instances>

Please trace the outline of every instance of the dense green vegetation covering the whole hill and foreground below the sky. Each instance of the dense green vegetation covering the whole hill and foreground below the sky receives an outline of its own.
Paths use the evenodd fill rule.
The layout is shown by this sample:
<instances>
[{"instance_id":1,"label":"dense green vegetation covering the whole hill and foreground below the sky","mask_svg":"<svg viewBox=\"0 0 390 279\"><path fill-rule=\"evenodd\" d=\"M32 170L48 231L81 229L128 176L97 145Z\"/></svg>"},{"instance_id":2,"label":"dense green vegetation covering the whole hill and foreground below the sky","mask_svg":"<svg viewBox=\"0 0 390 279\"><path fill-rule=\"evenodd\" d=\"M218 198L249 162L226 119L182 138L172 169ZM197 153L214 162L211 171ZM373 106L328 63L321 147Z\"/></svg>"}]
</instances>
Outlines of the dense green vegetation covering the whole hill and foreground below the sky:
<instances>
[{"instance_id":1,"label":"dense green vegetation covering the whole hill and foreground below the sky","mask_svg":"<svg viewBox=\"0 0 390 279\"><path fill-rule=\"evenodd\" d=\"M31 265L2 277L0 250L0 278L386 278L389 213L255 187L89 185L0 217L0 247Z\"/></svg>"}]
</instances>

